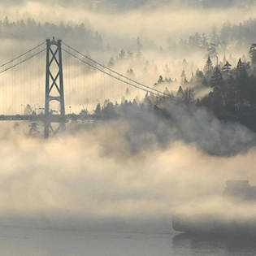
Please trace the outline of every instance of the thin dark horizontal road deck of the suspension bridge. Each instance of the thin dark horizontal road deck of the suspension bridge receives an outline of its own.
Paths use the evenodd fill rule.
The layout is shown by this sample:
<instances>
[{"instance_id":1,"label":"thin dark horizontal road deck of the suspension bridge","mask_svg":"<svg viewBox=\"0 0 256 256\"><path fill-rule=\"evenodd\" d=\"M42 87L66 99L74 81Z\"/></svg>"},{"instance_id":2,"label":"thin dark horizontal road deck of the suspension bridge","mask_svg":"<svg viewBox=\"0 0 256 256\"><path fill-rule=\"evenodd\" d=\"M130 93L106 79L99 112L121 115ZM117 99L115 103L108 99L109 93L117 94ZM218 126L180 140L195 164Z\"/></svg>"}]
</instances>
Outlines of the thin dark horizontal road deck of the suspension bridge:
<instances>
[{"instance_id":1,"label":"thin dark horizontal road deck of the suspension bridge","mask_svg":"<svg viewBox=\"0 0 256 256\"><path fill-rule=\"evenodd\" d=\"M65 115L64 122L68 120L95 120L102 119L98 115ZM0 115L0 121L41 121L46 122L46 115ZM48 118L50 123L61 123L63 122L63 117L61 115L50 115Z\"/></svg>"}]
</instances>

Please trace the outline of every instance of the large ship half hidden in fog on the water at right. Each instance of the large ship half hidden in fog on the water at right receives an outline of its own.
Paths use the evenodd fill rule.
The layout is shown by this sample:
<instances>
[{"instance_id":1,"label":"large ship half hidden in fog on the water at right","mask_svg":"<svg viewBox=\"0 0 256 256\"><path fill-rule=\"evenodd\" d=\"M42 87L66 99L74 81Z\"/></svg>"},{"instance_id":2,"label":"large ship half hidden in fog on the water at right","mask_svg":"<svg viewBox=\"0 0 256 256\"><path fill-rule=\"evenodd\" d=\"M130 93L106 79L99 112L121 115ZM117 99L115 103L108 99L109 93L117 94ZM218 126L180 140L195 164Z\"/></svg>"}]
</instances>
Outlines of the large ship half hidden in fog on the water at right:
<instances>
[{"instance_id":1,"label":"large ship half hidden in fog on the water at right","mask_svg":"<svg viewBox=\"0 0 256 256\"><path fill-rule=\"evenodd\" d=\"M256 187L248 180L229 180L217 200L192 202L176 210L172 227L187 233L256 234Z\"/></svg>"}]
</instances>

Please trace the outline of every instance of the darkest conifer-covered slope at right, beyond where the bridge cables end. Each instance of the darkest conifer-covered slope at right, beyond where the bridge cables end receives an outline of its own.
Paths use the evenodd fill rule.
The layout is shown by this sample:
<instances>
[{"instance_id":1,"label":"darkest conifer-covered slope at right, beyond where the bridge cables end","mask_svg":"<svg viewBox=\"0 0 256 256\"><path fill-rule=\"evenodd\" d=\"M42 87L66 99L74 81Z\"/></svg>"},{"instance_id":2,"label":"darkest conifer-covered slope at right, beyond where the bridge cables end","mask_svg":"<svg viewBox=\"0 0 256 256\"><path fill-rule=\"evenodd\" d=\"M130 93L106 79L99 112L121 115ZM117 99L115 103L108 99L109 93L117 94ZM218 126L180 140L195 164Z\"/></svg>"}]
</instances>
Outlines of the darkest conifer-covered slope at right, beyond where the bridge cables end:
<instances>
[{"instance_id":1,"label":"darkest conifer-covered slope at right, beyond where the bridge cables end","mask_svg":"<svg viewBox=\"0 0 256 256\"><path fill-rule=\"evenodd\" d=\"M223 120L233 120L256 130L256 44L249 48L250 61L239 59L235 67L225 60L214 66L210 56L202 71L181 84L176 93L186 103L204 106ZM208 88L205 97L195 98L194 89ZM172 93L173 96L173 93Z\"/></svg>"}]
</instances>

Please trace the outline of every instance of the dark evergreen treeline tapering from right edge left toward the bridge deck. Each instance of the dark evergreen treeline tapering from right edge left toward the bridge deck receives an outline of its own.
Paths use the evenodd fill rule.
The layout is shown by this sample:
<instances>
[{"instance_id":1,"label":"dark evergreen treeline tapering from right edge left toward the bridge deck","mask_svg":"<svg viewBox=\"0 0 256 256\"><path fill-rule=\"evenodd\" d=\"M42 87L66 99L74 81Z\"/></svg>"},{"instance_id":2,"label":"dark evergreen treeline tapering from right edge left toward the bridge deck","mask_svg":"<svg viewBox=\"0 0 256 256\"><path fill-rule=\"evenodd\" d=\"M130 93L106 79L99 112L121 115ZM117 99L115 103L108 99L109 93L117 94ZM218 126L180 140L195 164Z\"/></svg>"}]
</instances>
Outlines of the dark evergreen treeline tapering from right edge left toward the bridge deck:
<instances>
[{"instance_id":1,"label":"dark evergreen treeline tapering from right edge left toward the bridge deck","mask_svg":"<svg viewBox=\"0 0 256 256\"><path fill-rule=\"evenodd\" d=\"M181 85L176 92L167 87L164 91L165 98L147 93L142 102L134 100L114 104L106 101L103 106L98 104L94 114L111 119L131 115L129 113L139 113L145 109L157 109L159 112L159 106L164 110L167 102L176 101L192 106L192 109L194 106L206 107L223 121L239 122L256 131L256 44L250 47L249 55L249 62L239 59L236 67L232 67L228 60L214 66L209 56L202 71L197 70L190 80L187 80L185 75L181 77ZM162 76L158 84L161 79ZM202 98L196 98L194 89L198 87L208 89L209 93Z\"/></svg>"}]
</instances>

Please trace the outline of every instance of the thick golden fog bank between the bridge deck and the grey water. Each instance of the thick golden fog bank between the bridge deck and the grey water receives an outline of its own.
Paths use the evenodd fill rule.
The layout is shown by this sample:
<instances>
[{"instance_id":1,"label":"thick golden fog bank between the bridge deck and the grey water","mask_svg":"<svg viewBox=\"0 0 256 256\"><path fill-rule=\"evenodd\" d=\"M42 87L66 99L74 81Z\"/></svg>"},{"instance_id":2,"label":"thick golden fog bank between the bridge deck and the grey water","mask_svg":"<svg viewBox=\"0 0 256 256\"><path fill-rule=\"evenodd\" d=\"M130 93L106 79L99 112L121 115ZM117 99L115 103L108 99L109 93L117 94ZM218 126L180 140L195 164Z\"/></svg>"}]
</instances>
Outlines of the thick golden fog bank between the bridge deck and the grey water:
<instances>
[{"instance_id":1,"label":"thick golden fog bank between the bridge deck and the grey water","mask_svg":"<svg viewBox=\"0 0 256 256\"><path fill-rule=\"evenodd\" d=\"M226 180L255 182L253 132L205 110L170 110L169 120L131 109L70 124L49 141L2 124L2 216L171 218L176 205L221 195Z\"/></svg>"}]
</instances>

